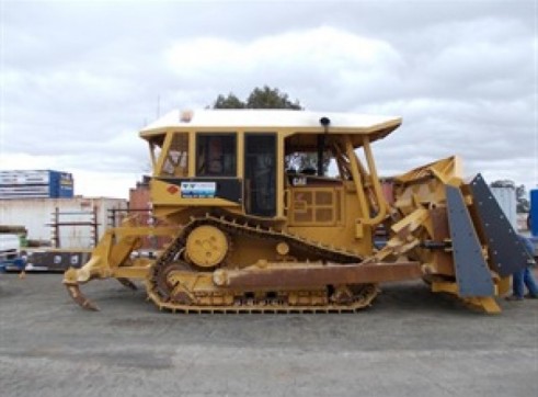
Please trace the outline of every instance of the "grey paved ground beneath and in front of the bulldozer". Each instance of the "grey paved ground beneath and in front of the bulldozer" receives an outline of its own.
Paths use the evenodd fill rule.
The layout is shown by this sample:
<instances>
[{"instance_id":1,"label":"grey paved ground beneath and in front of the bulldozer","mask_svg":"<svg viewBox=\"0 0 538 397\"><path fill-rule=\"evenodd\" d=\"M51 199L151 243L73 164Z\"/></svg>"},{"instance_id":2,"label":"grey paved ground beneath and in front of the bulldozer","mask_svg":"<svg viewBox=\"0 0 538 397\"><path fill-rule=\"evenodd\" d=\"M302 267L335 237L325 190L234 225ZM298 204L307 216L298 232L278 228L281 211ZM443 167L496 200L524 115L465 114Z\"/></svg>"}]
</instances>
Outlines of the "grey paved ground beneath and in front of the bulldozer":
<instances>
[{"instance_id":1,"label":"grey paved ground beneath and in front of the bulldozer","mask_svg":"<svg viewBox=\"0 0 538 397\"><path fill-rule=\"evenodd\" d=\"M1 396L537 396L538 300L468 310L422 283L345 315L172 315L115 281L0 274Z\"/></svg>"}]
</instances>

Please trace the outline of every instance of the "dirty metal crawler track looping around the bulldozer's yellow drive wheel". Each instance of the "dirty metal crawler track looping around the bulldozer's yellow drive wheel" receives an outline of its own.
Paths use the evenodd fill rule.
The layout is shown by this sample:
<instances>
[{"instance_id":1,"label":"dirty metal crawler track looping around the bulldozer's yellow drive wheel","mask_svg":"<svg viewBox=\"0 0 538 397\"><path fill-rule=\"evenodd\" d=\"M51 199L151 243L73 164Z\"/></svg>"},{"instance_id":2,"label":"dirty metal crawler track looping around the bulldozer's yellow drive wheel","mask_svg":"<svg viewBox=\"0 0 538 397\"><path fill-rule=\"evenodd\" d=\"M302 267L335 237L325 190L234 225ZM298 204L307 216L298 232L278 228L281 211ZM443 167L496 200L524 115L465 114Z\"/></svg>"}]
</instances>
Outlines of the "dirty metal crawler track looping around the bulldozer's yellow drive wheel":
<instances>
[{"instance_id":1,"label":"dirty metal crawler track looping around the bulldozer's yellow drive wheel","mask_svg":"<svg viewBox=\"0 0 538 397\"><path fill-rule=\"evenodd\" d=\"M317 261L356 263L362 258L351 251L322 246L298 236L249 224L248 219L206 214L193 217L179 236L156 260L147 280L149 298L160 308L180 313L354 313L370 305L377 286L363 284L347 288L345 298L335 291L324 288L301 291L247 292L217 287L211 271L201 271L184 260L184 247L192 230L210 225L231 239L247 235L263 240L285 241L291 250L307 252ZM226 265L226 264L225 264ZM335 296L339 298L335 298Z\"/></svg>"}]
</instances>

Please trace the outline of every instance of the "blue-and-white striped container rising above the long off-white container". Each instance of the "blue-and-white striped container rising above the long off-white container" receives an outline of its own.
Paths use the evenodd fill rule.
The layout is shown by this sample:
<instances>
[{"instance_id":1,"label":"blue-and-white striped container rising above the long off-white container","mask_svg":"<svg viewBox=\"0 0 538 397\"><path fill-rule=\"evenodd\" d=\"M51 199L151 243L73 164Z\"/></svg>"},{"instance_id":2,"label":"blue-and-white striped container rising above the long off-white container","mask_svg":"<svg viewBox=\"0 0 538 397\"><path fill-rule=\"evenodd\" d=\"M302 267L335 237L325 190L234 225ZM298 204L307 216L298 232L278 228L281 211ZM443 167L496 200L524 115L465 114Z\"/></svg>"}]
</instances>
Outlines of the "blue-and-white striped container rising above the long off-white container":
<instances>
[{"instance_id":1,"label":"blue-and-white striped container rising above the long off-white container","mask_svg":"<svg viewBox=\"0 0 538 397\"><path fill-rule=\"evenodd\" d=\"M0 171L0 198L69 198L73 192L73 178L69 172Z\"/></svg>"}]
</instances>

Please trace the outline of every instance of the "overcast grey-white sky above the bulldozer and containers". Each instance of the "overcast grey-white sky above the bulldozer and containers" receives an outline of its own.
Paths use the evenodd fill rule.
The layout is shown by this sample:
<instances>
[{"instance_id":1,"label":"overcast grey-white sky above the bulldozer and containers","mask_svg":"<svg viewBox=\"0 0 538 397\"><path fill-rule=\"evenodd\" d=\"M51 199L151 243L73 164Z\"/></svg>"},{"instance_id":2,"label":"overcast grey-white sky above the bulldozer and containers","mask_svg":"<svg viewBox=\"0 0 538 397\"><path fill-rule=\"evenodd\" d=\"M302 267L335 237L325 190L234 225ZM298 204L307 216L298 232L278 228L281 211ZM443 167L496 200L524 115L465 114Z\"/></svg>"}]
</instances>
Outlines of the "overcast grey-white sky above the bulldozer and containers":
<instances>
[{"instance_id":1,"label":"overcast grey-white sky above the bulldozer and containers","mask_svg":"<svg viewBox=\"0 0 538 397\"><path fill-rule=\"evenodd\" d=\"M538 0L0 0L0 169L127 197L157 114L270 86L312 111L399 115L381 174L459 155L538 186Z\"/></svg>"}]
</instances>

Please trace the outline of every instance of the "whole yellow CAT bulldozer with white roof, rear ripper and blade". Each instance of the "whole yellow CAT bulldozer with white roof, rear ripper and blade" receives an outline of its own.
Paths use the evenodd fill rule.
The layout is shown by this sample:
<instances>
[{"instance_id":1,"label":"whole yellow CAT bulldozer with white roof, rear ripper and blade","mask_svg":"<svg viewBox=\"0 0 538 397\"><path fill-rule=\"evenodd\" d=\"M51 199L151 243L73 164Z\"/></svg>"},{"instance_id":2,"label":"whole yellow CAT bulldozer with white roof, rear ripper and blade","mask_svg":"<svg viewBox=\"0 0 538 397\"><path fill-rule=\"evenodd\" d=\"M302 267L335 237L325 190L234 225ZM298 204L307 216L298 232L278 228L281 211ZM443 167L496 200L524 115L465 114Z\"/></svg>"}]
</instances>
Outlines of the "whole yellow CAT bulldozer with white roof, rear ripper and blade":
<instances>
[{"instance_id":1,"label":"whole yellow CAT bulldozer with white roof, rear ripper and blade","mask_svg":"<svg viewBox=\"0 0 538 397\"><path fill-rule=\"evenodd\" d=\"M180 313L342 313L379 285L423 279L433 292L499 313L526 252L479 174L450 157L392 177L384 193L371 144L399 117L284 110L173 111L140 132L152 214L106 230L64 276L71 297L95 279L145 283ZM301 167L301 166L309 167ZM380 239L380 230L385 238ZM165 236L154 258L134 253Z\"/></svg>"}]
</instances>

